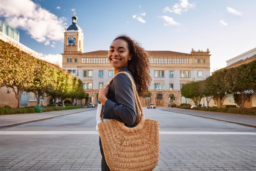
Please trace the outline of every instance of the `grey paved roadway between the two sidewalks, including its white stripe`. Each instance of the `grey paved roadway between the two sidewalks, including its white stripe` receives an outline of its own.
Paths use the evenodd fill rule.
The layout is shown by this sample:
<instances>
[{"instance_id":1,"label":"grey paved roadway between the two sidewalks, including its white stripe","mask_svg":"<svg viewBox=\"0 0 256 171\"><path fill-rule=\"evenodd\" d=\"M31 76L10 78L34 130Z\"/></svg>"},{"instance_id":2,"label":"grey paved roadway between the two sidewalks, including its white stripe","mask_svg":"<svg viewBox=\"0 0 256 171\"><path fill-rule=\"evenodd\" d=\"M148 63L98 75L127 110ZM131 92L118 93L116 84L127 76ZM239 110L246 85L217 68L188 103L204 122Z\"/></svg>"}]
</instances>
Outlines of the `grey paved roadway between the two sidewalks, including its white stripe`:
<instances>
[{"instance_id":1,"label":"grey paved roadway between the two sidewalks, including its white stripe","mask_svg":"<svg viewBox=\"0 0 256 171\"><path fill-rule=\"evenodd\" d=\"M144 108L160 123L154 171L255 171L256 128ZM0 171L101 171L96 110L0 129Z\"/></svg>"}]
</instances>

